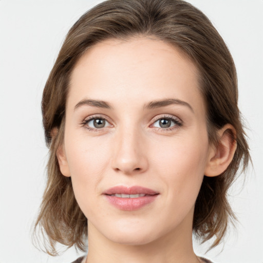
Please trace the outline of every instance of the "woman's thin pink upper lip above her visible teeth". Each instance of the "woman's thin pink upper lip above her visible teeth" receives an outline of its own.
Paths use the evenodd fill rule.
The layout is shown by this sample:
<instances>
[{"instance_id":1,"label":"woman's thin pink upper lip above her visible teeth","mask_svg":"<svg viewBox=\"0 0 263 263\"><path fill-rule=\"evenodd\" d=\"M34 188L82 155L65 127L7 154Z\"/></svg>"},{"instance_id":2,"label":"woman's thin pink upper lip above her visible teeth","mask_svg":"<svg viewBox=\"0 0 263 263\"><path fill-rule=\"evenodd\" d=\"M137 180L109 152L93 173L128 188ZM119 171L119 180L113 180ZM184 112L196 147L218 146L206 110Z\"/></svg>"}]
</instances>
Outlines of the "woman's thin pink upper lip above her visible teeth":
<instances>
[{"instance_id":1,"label":"woman's thin pink upper lip above her visible teeth","mask_svg":"<svg viewBox=\"0 0 263 263\"><path fill-rule=\"evenodd\" d=\"M148 189L146 187L142 186L123 186L118 185L109 188L105 192L103 192L104 195L113 195L113 194L126 194L126 195L137 195L137 194L145 194L145 195L156 195L159 194L158 192Z\"/></svg>"}]
</instances>

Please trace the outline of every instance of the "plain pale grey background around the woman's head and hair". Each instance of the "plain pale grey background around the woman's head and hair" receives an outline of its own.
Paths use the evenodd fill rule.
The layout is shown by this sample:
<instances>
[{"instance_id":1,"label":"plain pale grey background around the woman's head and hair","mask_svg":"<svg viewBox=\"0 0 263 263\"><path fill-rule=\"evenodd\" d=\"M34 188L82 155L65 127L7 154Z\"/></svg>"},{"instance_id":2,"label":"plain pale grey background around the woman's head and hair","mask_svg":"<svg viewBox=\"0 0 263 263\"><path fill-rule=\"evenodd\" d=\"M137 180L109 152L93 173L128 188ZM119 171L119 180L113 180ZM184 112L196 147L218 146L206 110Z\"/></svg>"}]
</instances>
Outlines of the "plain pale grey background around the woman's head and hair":
<instances>
[{"instance_id":1,"label":"plain pale grey background around the woman's head and hair","mask_svg":"<svg viewBox=\"0 0 263 263\"><path fill-rule=\"evenodd\" d=\"M1 263L69 263L79 256L70 249L53 258L31 243L48 154L40 103L67 31L80 15L99 2L0 0ZM240 221L237 233L230 229L224 245L205 256L216 263L263 263L263 1L189 2L208 15L233 55L239 107L249 127L254 162L245 184L241 176L230 191L230 201ZM204 255L207 246L195 245L195 250Z\"/></svg>"}]
</instances>

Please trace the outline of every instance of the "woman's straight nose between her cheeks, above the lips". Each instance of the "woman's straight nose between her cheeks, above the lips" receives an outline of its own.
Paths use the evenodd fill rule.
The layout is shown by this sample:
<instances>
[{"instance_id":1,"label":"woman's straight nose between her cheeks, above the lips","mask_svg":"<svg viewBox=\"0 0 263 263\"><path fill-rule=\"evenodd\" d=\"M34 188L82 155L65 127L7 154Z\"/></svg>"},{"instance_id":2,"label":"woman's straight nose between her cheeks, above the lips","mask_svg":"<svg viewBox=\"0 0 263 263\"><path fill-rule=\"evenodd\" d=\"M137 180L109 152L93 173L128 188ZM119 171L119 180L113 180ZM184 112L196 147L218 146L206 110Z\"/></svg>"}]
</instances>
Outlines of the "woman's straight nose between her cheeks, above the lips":
<instances>
[{"instance_id":1,"label":"woman's straight nose between her cheeks, above the lips","mask_svg":"<svg viewBox=\"0 0 263 263\"><path fill-rule=\"evenodd\" d=\"M112 168L126 175L145 172L148 160L143 135L138 130L123 128L115 136Z\"/></svg>"}]
</instances>

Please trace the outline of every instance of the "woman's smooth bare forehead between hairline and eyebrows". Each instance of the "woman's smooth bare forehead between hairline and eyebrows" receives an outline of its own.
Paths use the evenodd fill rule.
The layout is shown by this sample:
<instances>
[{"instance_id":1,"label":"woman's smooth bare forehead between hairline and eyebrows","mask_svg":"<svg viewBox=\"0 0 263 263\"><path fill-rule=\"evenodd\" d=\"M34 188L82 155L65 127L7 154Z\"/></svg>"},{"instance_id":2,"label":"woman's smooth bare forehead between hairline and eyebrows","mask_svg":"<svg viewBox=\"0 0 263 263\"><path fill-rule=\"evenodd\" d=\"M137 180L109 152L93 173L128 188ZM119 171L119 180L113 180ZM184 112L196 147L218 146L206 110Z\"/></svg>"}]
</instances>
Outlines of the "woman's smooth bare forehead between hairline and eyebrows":
<instances>
[{"instance_id":1,"label":"woman's smooth bare forehead between hairline and eyebrows","mask_svg":"<svg viewBox=\"0 0 263 263\"><path fill-rule=\"evenodd\" d=\"M147 37L110 39L91 47L74 67L68 103L85 97L146 103L172 96L199 107L199 90L197 67L173 45Z\"/></svg>"}]
</instances>

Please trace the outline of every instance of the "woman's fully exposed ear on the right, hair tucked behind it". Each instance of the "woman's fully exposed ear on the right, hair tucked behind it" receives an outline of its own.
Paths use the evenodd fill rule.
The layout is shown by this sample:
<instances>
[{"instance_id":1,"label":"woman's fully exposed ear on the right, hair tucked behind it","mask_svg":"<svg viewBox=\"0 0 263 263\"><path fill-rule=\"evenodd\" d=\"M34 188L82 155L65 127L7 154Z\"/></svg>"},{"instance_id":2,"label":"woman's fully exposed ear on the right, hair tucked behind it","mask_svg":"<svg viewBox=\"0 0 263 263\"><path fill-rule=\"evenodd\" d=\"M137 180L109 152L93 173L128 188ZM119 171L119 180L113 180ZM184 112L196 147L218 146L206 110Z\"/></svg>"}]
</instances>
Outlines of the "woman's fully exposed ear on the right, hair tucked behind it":
<instances>
[{"instance_id":1,"label":"woman's fully exposed ear on the right, hair tucked behind it","mask_svg":"<svg viewBox=\"0 0 263 263\"><path fill-rule=\"evenodd\" d=\"M231 124L224 125L218 130L219 143L211 146L204 175L213 177L227 170L236 151L236 130Z\"/></svg>"}]
</instances>

